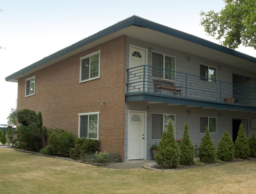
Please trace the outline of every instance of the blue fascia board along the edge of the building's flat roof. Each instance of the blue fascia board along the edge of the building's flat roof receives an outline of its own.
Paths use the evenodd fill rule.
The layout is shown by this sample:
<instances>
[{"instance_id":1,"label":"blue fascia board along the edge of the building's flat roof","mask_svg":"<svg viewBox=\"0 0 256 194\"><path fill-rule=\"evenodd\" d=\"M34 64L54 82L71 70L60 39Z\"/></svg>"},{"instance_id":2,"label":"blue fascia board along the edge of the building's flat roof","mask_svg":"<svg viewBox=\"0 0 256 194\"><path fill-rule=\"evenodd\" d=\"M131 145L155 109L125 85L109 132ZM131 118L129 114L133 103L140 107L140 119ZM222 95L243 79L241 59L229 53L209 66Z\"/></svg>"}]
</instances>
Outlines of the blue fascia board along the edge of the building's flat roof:
<instances>
[{"instance_id":1,"label":"blue fascia board along the edge of the building's flat roof","mask_svg":"<svg viewBox=\"0 0 256 194\"><path fill-rule=\"evenodd\" d=\"M226 53L226 54L230 54L232 56L239 57L241 59L248 60L250 62L256 63L256 58L255 57L249 56L247 54L240 53L238 51L232 50L231 48L223 47L219 44L212 43L210 41L207 41L207 40L204 40L202 38L196 37L194 35L187 34L185 32L182 32L182 31L179 31L179 30L176 30L176 29L173 29L173 28L161 25L161 24L157 24L155 22L140 18L138 16L131 16L130 18L127 18L127 19L125 19L123 21L120 21L120 22L118 22L118 23L116 23L116 24L114 24L114 25L112 25L112 26L110 26L106 29L103 29L102 31L97 32L94 35L91 35L91 36L89 36L89 37L87 37L83 40L80 40L79 42L74 43L69 47L66 47L66 48L64 48L60 51L57 51L56 53L53 53L53 54L49 55L48 57L45 57L42 60L39 60L38 62L33 63L32 65L27 66L26 68L21 69L18 72L13 73L10 76L7 76L5 78L5 80L8 81L12 78L15 78L16 76L21 75L22 73L30 71L30 70L32 70L32 69L34 69L34 68L36 68L40 65L43 65L47 62L50 62L51 60L54 60L54 59L56 59L60 56L63 56L64 54L67 54L71 51L74 51L77 48L83 47L86 44L92 43L92 42L94 42L94 41L96 41L100 38L103 38L103 37L105 37L109 34L117 32L117 31L119 31L121 29L124 29L128 26L131 26L131 25L137 25L137 26L140 26L140 27L143 27L143 28L148 28L148 29L152 29L154 31L162 32L162 33L167 34L167 35L171 35L171 36L174 36L174 37L186 40L186 41L190 41L190 42L195 43L195 44L199 44L199 45L202 45L202 46L205 46L205 47L208 47L208 48L212 48L214 50L217 50L217 51L220 51L220 52L223 52L223 53Z\"/></svg>"}]
</instances>

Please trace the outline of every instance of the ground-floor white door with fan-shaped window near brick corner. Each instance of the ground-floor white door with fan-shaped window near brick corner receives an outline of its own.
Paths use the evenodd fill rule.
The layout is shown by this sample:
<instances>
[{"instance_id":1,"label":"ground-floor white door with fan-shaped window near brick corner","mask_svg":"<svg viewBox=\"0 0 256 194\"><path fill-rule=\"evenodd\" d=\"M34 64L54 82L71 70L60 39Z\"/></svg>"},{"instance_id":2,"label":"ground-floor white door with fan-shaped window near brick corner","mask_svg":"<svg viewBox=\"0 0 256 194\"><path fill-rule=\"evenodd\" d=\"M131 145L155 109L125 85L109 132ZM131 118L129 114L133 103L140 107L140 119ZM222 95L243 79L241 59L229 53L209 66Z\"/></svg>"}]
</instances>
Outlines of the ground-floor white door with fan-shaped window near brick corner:
<instances>
[{"instance_id":1,"label":"ground-floor white door with fan-shaped window near brick corner","mask_svg":"<svg viewBox=\"0 0 256 194\"><path fill-rule=\"evenodd\" d=\"M144 159L144 113L129 112L128 160Z\"/></svg>"}]
</instances>

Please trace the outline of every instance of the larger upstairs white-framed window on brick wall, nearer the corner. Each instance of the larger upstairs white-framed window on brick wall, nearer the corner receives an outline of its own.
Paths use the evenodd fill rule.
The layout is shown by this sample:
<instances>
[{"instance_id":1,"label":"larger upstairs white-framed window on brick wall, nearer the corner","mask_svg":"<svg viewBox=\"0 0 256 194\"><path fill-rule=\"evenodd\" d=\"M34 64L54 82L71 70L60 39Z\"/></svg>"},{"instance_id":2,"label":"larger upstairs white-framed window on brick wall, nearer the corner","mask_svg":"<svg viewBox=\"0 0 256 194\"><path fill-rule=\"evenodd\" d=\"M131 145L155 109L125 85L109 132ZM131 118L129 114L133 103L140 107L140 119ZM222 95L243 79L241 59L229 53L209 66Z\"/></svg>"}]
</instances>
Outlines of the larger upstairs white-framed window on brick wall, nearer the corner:
<instances>
[{"instance_id":1,"label":"larger upstairs white-framed window on brick wall, nearer the corner","mask_svg":"<svg viewBox=\"0 0 256 194\"><path fill-rule=\"evenodd\" d=\"M100 51L80 58L80 82L100 77Z\"/></svg>"}]
</instances>

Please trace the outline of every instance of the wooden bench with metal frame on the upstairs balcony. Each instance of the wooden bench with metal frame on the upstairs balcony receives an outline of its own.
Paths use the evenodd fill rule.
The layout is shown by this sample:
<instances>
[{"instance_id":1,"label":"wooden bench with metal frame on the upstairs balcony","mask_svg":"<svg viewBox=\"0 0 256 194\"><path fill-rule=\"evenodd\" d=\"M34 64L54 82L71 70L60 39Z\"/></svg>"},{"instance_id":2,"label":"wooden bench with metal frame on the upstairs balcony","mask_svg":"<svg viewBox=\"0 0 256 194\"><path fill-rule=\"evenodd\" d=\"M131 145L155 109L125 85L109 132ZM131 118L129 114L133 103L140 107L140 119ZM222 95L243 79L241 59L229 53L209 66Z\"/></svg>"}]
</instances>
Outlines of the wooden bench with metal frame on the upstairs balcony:
<instances>
[{"instance_id":1,"label":"wooden bench with metal frame on the upstairs balcony","mask_svg":"<svg viewBox=\"0 0 256 194\"><path fill-rule=\"evenodd\" d=\"M174 91L174 96L175 96L175 94L180 94L180 91L182 91L182 89L180 88L180 87L182 87L182 85L180 87L176 87L174 85L174 82L170 82L165 79L153 79L153 82L155 85L155 92L160 91L160 94L161 94L161 89ZM179 88L179 89L177 89L177 88Z\"/></svg>"}]
</instances>

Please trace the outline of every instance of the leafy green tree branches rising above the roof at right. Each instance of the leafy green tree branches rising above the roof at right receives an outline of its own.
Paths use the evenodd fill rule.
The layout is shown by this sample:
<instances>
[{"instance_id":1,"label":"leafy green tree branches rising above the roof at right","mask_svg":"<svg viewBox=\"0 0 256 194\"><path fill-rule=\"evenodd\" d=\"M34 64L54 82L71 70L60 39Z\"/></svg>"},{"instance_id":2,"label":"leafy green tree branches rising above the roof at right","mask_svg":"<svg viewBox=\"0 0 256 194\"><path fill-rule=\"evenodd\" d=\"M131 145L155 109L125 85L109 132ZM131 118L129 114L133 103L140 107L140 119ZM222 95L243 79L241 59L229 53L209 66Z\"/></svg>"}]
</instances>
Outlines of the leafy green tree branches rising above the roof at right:
<instances>
[{"instance_id":1,"label":"leafy green tree branches rising above the roof at right","mask_svg":"<svg viewBox=\"0 0 256 194\"><path fill-rule=\"evenodd\" d=\"M234 49L242 44L256 49L255 0L223 1L225 7L220 12L200 12L200 25L204 26L204 31L223 46Z\"/></svg>"}]
</instances>

